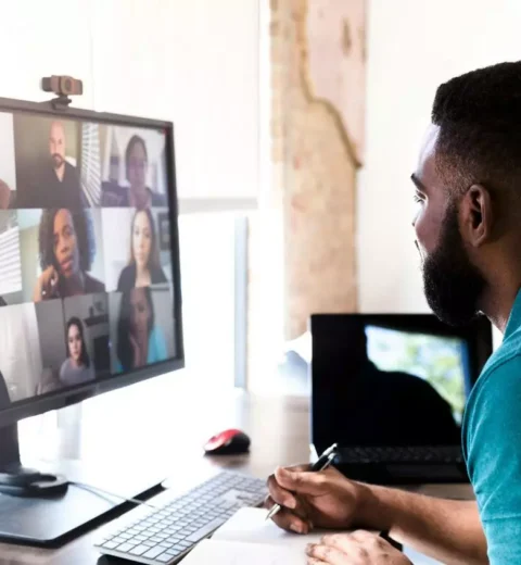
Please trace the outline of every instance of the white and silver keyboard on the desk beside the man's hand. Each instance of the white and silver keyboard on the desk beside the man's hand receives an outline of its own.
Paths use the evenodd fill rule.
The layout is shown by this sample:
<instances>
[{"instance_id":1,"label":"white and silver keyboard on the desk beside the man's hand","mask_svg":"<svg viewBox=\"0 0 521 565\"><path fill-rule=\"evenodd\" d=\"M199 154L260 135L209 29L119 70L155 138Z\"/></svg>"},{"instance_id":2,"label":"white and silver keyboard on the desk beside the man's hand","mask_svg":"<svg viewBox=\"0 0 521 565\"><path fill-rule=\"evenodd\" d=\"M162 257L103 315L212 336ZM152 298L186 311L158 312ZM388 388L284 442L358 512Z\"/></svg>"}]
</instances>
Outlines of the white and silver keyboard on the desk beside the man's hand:
<instances>
[{"instance_id":1,"label":"white and silver keyboard on the desk beside the man's hand","mask_svg":"<svg viewBox=\"0 0 521 565\"><path fill-rule=\"evenodd\" d=\"M101 553L148 565L180 561L243 506L267 495L260 479L223 472L185 494L168 490L111 525L96 548Z\"/></svg>"}]
</instances>

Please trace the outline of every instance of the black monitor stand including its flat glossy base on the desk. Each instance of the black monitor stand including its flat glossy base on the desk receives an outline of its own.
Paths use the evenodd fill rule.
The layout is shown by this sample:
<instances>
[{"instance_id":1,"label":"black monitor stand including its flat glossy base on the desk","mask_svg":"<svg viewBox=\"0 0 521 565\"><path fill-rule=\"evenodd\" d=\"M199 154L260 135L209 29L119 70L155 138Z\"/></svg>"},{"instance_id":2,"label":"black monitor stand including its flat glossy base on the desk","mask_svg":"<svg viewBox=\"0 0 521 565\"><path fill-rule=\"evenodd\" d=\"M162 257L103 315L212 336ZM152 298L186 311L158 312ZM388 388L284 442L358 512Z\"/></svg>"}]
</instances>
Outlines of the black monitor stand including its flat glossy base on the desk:
<instances>
[{"instance_id":1,"label":"black monitor stand including its flat glossy base on the desk","mask_svg":"<svg viewBox=\"0 0 521 565\"><path fill-rule=\"evenodd\" d=\"M85 462L77 460L58 462L55 468L62 475L23 468L17 424L0 428L0 541L60 547L134 507L120 497L145 500L163 490L165 477L158 477L156 470L132 473L131 466L118 464L117 457L103 463L106 473L94 473L94 478ZM65 476L93 482L94 488L67 482ZM96 487L118 495L97 492Z\"/></svg>"}]
</instances>

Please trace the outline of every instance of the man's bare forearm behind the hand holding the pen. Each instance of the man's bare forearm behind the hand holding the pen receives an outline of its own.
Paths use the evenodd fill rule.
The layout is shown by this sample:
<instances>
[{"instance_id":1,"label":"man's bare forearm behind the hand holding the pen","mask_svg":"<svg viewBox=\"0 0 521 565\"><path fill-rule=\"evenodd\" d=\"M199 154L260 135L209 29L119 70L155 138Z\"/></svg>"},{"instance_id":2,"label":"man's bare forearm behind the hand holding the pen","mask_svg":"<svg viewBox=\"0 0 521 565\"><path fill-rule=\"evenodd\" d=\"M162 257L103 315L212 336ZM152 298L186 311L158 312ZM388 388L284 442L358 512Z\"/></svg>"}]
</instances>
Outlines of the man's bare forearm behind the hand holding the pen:
<instances>
[{"instance_id":1,"label":"man's bare forearm behind the hand holding the pen","mask_svg":"<svg viewBox=\"0 0 521 565\"><path fill-rule=\"evenodd\" d=\"M359 517L404 545L447 564L486 564L486 540L474 501L365 487Z\"/></svg>"}]
</instances>

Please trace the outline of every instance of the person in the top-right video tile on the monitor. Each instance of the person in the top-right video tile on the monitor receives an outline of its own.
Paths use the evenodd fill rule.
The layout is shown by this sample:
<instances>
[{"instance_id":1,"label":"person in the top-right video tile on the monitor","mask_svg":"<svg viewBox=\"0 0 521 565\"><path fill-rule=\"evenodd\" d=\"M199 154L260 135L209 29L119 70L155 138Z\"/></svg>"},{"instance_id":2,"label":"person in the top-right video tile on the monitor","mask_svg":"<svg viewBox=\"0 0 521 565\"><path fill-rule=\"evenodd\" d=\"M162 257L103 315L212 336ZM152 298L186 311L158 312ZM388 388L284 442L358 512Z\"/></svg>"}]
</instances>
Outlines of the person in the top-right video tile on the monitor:
<instances>
[{"instance_id":1,"label":"person in the top-right video tile on the monitor","mask_svg":"<svg viewBox=\"0 0 521 565\"><path fill-rule=\"evenodd\" d=\"M147 186L149 154L144 139L132 136L125 151L125 171L128 188L107 185L103 189L102 206L130 206L138 210L167 205L166 197Z\"/></svg>"}]
</instances>

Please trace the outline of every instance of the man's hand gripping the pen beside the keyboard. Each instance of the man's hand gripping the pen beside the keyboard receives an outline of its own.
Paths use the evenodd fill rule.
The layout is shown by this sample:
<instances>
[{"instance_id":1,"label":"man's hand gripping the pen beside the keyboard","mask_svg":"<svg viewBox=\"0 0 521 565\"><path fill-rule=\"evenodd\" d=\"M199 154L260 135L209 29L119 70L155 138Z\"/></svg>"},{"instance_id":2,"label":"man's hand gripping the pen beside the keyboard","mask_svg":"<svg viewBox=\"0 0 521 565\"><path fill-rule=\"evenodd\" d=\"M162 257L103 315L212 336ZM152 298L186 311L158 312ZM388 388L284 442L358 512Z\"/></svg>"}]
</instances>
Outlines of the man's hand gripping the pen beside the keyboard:
<instances>
[{"instance_id":1,"label":"man's hand gripping the pen beside the keyboard","mask_svg":"<svg viewBox=\"0 0 521 565\"><path fill-rule=\"evenodd\" d=\"M358 519L365 487L347 480L329 467L310 473L308 466L278 468L268 478L269 497L266 507L276 502L282 508L274 522L283 529L307 533L315 526L348 529Z\"/></svg>"}]
</instances>

